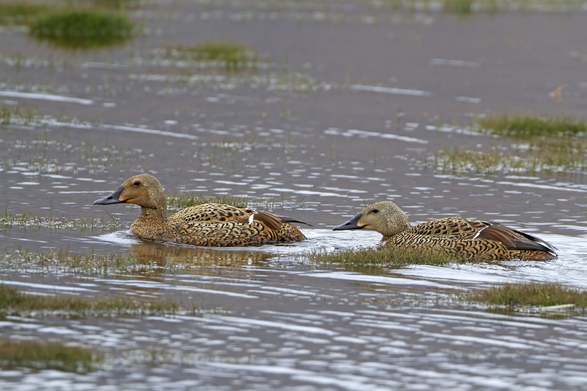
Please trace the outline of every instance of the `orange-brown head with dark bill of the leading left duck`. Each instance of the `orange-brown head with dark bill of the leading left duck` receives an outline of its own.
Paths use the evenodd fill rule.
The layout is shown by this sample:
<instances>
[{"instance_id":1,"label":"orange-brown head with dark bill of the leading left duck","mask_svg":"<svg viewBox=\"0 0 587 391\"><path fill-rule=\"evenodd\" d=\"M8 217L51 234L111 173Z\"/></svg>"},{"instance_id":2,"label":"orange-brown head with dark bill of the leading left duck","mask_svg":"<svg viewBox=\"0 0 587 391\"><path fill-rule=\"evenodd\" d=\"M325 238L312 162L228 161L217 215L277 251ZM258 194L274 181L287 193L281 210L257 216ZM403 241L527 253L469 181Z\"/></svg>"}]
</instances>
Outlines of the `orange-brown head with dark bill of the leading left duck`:
<instances>
[{"instance_id":1,"label":"orange-brown head with dark bill of the leading left duck","mask_svg":"<svg viewBox=\"0 0 587 391\"><path fill-rule=\"evenodd\" d=\"M163 210L167 212L167 197L163 186L153 175L140 174L131 176L112 194L94 201L94 205L111 203L134 203L141 208Z\"/></svg>"}]
</instances>

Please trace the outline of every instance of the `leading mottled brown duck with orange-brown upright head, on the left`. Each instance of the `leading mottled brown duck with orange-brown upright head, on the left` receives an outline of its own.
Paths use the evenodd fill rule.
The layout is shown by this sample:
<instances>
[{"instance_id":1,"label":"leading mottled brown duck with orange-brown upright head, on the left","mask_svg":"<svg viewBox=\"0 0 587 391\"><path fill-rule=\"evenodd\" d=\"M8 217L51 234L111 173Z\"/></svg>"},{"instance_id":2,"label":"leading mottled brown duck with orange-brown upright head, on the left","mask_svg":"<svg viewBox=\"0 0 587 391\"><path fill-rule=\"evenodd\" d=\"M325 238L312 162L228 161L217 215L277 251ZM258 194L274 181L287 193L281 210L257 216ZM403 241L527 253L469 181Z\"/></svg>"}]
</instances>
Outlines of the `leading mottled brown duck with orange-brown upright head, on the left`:
<instances>
[{"instance_id":1,"label":"leading mottled brown duck with orange-brown upright head, on the left","mask_svg":"<svg viewBox=\"0 0 587 391\"><path fill-rule=\"evenodd\" d=\"M235 247L307 239L293 225L306 223L242 206L203 203L167 217L167 196L161 183L150 174L131 176L110 195L94 201L94 205L114 203L132 203L141 207L130 232L146 240Z\"/></svg>"}]
</instances>

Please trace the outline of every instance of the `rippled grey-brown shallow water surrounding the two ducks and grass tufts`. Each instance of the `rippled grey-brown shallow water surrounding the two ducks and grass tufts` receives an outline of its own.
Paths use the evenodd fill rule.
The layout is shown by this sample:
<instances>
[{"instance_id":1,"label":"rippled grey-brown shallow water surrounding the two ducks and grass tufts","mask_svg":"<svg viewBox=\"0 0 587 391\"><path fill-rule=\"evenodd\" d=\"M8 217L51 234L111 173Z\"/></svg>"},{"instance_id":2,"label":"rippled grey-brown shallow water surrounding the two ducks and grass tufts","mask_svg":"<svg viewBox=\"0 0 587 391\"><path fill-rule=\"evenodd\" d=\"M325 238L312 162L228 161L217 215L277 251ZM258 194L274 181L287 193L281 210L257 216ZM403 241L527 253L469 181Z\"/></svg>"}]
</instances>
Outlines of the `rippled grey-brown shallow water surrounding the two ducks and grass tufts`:
<instances>
[{"instance_id":1,"label":"rippled grey-brown shallow water surrounding the two ducks and grass tufts","mask_svg":"<svg viewBox=\"0 0 587 391\"><path fill-rule=\"evenodd\" d=\"M0 226L15 254L0 278L34 294L173 297L205 311L6 317L2 337L75 342L106 361L86 375L5 370L1 389L587 389L585 317L494 314L450 296L512 281L586 287L585 173L455 174L431 161L454 145L510 148L469 130L474 115L587 117L584 13L462 18L355 1L150 2L129 13L143 36L96 52L0 30L0 104L42 115L0 125L6 213L37 217ZM161 57L220 38L257 47L265 65L227 74ZM562 101L550 94L559 86ZM127 231L136 208L92 205L138 172L168 191L249 196L311 223L309 240L141 242ZM413 223L504 223L559 257L344 268L304 255L377 243L377 233L330 229L381 199ZM39 267L24 249L129 254L141 267Z\"/></svg>"}]
</instances>

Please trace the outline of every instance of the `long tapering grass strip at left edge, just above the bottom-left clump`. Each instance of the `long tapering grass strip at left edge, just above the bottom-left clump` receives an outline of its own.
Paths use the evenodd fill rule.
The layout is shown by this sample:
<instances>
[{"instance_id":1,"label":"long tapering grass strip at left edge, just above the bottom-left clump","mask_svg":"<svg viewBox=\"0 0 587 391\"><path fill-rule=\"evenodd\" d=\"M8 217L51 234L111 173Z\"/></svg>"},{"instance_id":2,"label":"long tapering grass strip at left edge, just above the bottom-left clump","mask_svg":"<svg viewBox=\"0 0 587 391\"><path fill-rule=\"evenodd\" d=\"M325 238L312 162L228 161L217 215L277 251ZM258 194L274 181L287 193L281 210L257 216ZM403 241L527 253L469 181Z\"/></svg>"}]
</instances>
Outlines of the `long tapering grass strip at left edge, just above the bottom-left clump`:
<instances>
[{"instance_id":1,"label":"long tapering grass strip at left edge, just above the bottom-left clump","mask_svg":"<svg viewBox=\"0 0 587 391\"><path fill-rule=\"evenodd\" d=\"M168 298L138 300L130 297L87 298L63 295L31 295L18 289L0 284L0 314L19 315L31 312L38 316L48 312L65 316L87 315L199 315L200 306L182 307L178 302Z\"/></svg>"}]
</instances>

